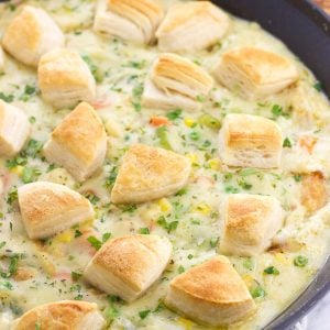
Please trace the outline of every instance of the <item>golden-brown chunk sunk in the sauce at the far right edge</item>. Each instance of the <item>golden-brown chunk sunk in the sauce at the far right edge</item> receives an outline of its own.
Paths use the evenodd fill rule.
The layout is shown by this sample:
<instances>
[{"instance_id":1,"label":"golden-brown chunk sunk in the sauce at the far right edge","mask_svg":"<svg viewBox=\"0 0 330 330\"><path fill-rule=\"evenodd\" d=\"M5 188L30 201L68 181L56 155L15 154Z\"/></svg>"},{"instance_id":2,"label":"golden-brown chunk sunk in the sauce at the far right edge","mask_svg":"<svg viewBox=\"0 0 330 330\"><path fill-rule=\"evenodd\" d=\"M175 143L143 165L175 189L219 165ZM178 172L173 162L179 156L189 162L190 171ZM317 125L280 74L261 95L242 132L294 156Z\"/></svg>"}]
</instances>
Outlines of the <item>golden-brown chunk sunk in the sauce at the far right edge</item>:
<instances>
[{"instance_id":1,"label":"golden-brown chunk sunk in the sauce at the far right edge","mask_svg":"<svg viewBox=\"0 0 330 330\"><path fill-rule=\"evenodd\" d=\"M320 172L305 175L301 183L301 204L308 213L314 213L327 204L326 179Z\"/></svg>"}]
</instances>

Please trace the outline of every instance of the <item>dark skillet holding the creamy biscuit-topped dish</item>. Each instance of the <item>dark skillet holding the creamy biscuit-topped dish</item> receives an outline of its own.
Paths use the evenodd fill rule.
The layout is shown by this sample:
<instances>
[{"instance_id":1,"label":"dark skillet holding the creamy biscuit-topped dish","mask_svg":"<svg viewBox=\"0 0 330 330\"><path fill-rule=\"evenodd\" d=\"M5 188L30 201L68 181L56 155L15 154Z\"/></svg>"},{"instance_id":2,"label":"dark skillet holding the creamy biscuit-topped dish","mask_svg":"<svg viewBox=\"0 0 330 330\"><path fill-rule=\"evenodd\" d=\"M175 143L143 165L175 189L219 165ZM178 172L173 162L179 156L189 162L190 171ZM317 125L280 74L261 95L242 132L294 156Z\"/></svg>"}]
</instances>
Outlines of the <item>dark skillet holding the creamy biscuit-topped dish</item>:
<instances>
[{"instance_id":1,"label":"dark skillet holding the creamy biscuit-topped dish","mask_svg":"<svg viewBox=\"0 0 330 330\"><path fill-rule=\"evenodd\" d=\"M6 0L0 0L4 2ZM330 96L330 19L310 0L213 0L234 15L258 22L309 67ZM308 288L264 330L289 329L330 289L330 256Z\"/></svg>"}]
</instances>

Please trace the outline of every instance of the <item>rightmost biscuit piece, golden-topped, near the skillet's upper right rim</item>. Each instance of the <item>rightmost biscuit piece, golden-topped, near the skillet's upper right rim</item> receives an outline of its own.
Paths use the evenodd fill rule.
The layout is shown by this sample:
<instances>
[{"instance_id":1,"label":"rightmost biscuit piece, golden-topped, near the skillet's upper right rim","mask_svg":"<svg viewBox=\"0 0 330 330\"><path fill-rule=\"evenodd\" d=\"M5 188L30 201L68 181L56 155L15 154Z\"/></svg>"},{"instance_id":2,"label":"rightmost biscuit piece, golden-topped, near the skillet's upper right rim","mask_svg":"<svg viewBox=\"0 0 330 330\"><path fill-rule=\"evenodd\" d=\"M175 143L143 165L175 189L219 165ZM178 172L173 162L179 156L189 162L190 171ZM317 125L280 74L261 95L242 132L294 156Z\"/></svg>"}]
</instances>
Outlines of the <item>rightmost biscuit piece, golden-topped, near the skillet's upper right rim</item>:
<instances>
[{"instance_id":1,"label":"rightmost biscuit piece, golden-topped, near the skillet's upper right rim","mask_svg":"<svg viewBox=\"0 0 330 330\"><path fill-rule=\"evenodd\" d=\"M248 99L282 91L298 79L294 63L277 54L245 47L222 55L216 78L228 89Z\"/></svg>"}]
</instances>

